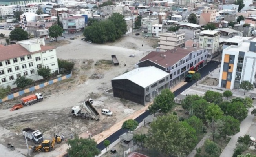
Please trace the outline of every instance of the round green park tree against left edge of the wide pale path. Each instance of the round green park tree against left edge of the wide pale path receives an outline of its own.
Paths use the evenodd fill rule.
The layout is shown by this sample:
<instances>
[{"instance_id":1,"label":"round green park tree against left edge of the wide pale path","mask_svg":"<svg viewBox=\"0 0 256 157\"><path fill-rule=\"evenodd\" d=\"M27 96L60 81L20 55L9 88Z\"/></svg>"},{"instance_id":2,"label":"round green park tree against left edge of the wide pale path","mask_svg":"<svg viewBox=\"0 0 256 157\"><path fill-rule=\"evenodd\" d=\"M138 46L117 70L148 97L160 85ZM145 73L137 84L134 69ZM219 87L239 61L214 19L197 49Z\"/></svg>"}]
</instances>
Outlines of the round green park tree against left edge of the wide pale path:
<instances>
[{"instance_id":1,"label":"round green park tree against left edge of the wide pale path","mask_svg":"<svg viewBox=\"0 0 256 157\"><path fill-rule=\"evenodd\" d=\"M222 116L221 120L223 122L223 126L219 128L219 133L224 139L227 136L235 135L240 131L240 122L237 119L234 119L232 116Z\"/></svg>"}]
</instances>

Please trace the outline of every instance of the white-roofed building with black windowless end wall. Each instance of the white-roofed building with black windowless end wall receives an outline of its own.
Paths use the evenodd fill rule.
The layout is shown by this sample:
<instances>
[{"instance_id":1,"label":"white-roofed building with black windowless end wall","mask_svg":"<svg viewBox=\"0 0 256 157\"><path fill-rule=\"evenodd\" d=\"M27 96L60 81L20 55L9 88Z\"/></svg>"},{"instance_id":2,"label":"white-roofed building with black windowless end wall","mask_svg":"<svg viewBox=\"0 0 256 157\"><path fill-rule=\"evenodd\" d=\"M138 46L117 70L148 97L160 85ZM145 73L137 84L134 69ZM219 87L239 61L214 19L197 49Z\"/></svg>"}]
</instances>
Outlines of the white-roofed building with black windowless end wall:
<instances>
[{"instance_id":1,"label":"white-roofed building with black windowless end wall","mask_svg":"<svg viewBox=\"0 0 256 157\"><path fill-rule=\"evenodd\" d=\"M169 89L169 75L154 66L134 69L111 80L114 97L145 105L163 89Z\"/></svg>"}]
</instances>

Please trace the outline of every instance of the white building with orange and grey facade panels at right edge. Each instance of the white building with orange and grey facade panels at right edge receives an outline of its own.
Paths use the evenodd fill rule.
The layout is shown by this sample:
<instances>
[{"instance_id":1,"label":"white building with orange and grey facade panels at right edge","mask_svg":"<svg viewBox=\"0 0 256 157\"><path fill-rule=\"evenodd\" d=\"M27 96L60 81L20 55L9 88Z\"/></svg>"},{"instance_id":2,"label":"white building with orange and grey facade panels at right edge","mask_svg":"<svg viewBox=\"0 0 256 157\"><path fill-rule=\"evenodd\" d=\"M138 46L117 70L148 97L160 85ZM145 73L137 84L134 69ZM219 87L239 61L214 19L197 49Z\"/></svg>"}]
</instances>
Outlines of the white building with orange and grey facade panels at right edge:
<instances>
[{"instance_id":1,"label":"white building with orange and grey facade panels at right edge","mask_svg":"<svg viewBox=\"0 0 256 157\"><path fill-rule=\"evenodd\" d=\"M242 40L223 50L219 87L239 89L242 81L256 84L256 39Z\"/></svg>"}]
</instances>

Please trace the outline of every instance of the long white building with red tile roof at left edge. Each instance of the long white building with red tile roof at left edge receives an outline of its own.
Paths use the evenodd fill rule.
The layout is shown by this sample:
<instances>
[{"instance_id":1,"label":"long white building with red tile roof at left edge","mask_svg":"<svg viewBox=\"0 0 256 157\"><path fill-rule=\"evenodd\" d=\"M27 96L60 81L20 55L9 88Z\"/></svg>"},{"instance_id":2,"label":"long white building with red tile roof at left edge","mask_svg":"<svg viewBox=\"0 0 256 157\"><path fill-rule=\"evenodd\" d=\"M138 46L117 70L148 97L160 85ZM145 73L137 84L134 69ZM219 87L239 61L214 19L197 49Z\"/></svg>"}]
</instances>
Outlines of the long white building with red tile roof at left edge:
<instances>
[{"instance_id":1,"label":"long white building with red tile roof at left edge","mask_svg":"<svg viewBox=\"0 0 256 157\"><path fill-rule=\"evenodd\" d=\"M13 82L26 76L33 80L42 79L37 69L49 67L51 73L59 73L56 48L46 46L43 38L23 40L18 44L0 47L0 80L2 86L15 88Z\"/></svg>"}]
</instances>

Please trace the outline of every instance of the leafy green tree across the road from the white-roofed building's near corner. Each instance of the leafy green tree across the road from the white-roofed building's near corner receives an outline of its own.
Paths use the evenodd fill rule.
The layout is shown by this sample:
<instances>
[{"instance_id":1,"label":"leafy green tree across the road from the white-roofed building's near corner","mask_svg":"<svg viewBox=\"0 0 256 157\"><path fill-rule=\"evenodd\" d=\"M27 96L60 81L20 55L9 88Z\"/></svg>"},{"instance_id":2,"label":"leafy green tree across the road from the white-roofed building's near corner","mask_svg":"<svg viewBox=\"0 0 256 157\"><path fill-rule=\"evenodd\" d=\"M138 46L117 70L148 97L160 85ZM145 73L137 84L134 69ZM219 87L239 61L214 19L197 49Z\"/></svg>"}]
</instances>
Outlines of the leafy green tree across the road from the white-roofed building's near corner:
<instances>
[{"instance_id":1,"label":"leafy green tree across the road from the white-roofed building's near corner","mask_svg":"<svg viewBox=\"0 0 256 157\"><path fill-rule=\"evenodd\" d=\"M150 113L156 113L157 110L161 110L161 112L166 114L172 109L174 104L174 94L170 89L166 88L155 97L153 104L148 107L148 111Z\"/></svg>"}]
</instances>

